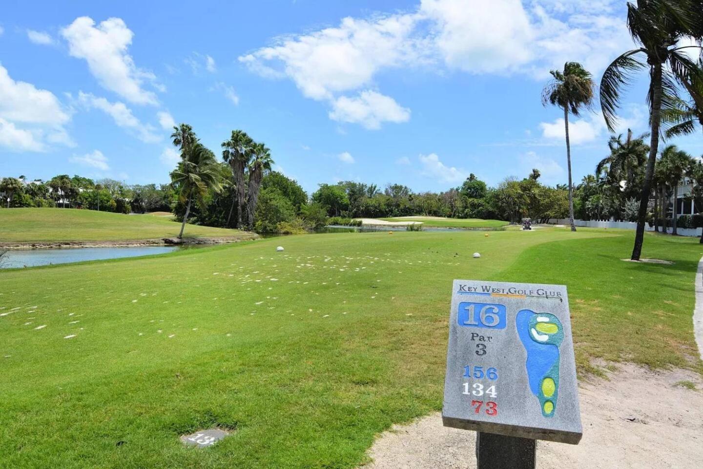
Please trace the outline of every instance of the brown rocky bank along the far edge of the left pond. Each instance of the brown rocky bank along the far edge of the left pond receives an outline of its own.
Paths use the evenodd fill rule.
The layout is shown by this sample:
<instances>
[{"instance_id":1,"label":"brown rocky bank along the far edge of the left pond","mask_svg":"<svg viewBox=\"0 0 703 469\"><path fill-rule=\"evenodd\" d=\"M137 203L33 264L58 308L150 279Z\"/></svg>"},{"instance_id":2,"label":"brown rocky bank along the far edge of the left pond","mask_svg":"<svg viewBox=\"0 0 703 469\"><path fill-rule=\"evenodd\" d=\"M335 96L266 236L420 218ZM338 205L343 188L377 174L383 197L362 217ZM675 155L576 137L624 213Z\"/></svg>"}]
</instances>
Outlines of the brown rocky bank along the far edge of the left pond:
<instances>
[{"instance_id":1,"label":"brown rocky bank along the far edge of the left pond","mask_svg":"<svg viewBox=\"0 0 703 469\"><path fill-rule=\"evenodd\" d=\"M126 248L129 246L211 245L239 243L259 239L255 233L242 236L219 236L202 238L153 238L115 241L25 241L22 243L0 243L1 249L60 249L60 248Z\"/></svg>"}]
</instances>

